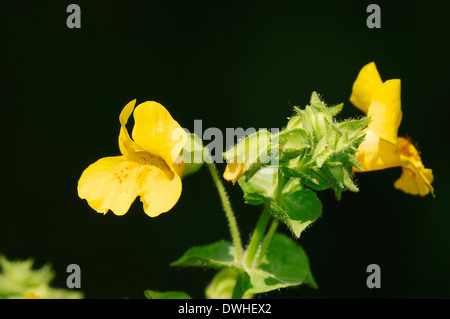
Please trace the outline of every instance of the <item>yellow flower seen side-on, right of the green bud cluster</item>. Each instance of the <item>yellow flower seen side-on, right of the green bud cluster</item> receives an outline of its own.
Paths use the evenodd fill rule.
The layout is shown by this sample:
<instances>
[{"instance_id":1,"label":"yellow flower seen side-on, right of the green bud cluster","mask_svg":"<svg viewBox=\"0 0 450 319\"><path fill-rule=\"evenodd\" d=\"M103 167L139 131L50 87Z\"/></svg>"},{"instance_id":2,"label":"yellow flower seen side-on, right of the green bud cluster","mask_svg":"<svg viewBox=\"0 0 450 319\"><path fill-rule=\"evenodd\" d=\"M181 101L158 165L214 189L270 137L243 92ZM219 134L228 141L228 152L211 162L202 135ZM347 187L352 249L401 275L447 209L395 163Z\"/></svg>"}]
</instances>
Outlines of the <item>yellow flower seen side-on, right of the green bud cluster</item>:
<instances>
[{"instance_id":1,"label":"yellow flower seen side-on, right of the green bud cluster","mask_svg":"<svg viewBox=\"0 0 450 319\"><path fill-rule=\"evenodd\" d=\"M402 119L400 80L383 82L376 65L365 65L353 84L350 101L371 118L356 157L364 171L401 167L394 187L412 195L434 196L433 173L425 168L414 145L398 137Z\"/></svg>"}]
</instances>

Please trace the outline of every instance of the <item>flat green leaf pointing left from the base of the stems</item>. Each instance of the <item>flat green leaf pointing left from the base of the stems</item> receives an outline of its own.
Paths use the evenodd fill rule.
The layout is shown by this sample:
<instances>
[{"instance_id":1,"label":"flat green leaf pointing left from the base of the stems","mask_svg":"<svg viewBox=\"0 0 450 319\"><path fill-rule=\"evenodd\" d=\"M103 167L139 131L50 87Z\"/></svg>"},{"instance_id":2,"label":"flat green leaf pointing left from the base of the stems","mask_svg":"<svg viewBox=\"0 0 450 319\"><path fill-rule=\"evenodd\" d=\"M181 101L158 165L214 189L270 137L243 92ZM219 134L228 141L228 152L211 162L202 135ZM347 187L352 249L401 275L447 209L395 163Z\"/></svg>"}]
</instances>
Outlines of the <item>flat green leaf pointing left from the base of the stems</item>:
<instances>
[{"instance_id":1,"label":"flat green leaf pointing left from the base of the stems","mask_svg":"<svg viewBox=\"0 0 450 319\"><path fill-rule=\"evenodd\" d=\"M192 247L170 266L204 266L222 268L238 265L233 245L225 240L217 243Z\"/></svg>"}]
</instances>

